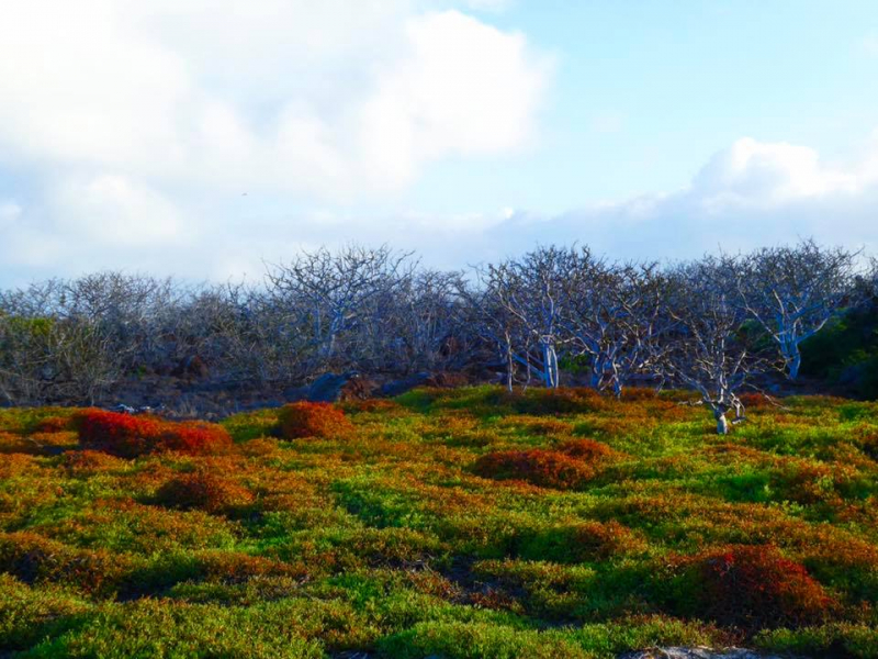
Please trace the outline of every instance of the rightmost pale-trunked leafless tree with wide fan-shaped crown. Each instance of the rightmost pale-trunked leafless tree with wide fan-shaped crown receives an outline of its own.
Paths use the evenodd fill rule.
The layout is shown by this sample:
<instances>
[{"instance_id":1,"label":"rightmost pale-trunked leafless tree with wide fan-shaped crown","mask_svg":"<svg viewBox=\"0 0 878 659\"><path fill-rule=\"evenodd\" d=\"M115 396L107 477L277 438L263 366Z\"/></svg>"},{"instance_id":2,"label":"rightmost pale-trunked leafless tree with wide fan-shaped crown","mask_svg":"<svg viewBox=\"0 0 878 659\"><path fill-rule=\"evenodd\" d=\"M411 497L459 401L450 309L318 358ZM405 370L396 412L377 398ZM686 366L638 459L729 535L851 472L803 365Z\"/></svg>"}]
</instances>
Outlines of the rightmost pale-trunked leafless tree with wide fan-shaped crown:
<instances>
[{"instance_id":1,"label":"rightmost pale-trunked leafless tree with wide fan-shaped crown","mask_svg":"<svg viewBox=\"0 0 878 659\"><path fill-rule=\"evenodd\" d=\"M851 293L855 257L841 247L821 247L809 239L735 259L739 295L777 344L790 380L799 376L799 346L826 324Z\"/></svg>"}]
</instances>

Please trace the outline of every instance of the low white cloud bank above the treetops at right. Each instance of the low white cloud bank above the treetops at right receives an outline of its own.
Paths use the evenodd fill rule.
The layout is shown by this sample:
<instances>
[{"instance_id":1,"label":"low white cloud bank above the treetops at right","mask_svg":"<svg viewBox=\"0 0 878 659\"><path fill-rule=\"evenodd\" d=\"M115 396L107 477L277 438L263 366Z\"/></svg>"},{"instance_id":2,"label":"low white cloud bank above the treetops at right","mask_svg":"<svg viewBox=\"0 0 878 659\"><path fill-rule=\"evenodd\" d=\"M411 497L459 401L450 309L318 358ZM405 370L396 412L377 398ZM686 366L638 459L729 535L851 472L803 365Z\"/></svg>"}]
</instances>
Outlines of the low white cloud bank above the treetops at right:
<instances>
[{"instance_id":1,"label":"low white cloud bank above the treetops at right","mask_svg":"<svg viewBox=\"0 0 878 659\"><path fill-rule=\"evenodd\" d=\"M684 189L601 203L556 217L519 212L483 245L516 253L540 243L587 243L618 258L686 258L789 243L878 250L878 139L862 161L824 164L817 150L742 138Z\"/></svg>"}]
</instances>

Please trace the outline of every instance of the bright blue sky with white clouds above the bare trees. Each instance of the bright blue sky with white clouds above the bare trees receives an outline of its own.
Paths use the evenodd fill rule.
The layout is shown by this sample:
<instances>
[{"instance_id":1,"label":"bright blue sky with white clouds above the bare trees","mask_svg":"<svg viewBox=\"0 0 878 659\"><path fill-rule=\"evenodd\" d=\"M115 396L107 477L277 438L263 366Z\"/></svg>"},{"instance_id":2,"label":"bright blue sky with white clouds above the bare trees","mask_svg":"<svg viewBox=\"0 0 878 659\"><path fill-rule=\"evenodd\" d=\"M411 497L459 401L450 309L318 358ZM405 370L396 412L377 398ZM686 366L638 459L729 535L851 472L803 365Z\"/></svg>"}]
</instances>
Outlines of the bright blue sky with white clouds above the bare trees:
<instances>
[{"instance_id":1,"label":"bright blue sky with white clouds above the bare trees","mask_svg":"<svg viewBox=\"0 0 878 659\"><path fill-rule=\"evenodd\" d=\"M878 252L874 0L3 0L0 286Z\"/></svg>"}]
</instances>

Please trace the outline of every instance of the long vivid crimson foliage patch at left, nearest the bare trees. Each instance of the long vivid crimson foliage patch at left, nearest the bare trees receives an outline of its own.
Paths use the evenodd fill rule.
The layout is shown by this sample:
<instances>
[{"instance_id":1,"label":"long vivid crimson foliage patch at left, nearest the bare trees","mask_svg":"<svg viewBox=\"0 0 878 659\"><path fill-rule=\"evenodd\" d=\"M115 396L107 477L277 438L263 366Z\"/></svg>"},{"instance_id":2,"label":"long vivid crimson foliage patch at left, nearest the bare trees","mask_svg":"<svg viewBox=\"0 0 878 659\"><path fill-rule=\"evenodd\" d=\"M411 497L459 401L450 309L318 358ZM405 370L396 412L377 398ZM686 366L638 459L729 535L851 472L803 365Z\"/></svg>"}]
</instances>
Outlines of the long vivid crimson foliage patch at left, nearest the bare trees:
<instances>
[{"instance_id":1,"label":"long vivid crimson foliage patch at left, nearest the bare trees","mask_svg":"<svg viewBox=\"0 0 878 659\"><path fill-rule=\"evenodd\" d=\"M211 423L172 423L155 416L104 410L83 410L76 414L75 423L83 448L122 458L161 450L213 454L232 446L232 437L226 429Z\"/></svg>"}]
</instances>

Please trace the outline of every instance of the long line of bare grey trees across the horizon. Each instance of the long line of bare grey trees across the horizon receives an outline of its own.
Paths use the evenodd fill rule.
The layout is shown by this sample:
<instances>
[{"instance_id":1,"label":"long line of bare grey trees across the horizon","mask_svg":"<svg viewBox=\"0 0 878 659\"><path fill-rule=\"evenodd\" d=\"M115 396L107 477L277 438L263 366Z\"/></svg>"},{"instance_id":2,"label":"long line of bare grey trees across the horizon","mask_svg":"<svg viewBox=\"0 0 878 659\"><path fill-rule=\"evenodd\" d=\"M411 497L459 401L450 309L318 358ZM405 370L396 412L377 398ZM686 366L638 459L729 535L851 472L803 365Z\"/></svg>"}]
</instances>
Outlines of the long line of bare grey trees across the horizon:
<instances>
[{"instance_id":1,"label":"long line of bare grey trees across the horizon","mask_svg":"<svg viewBox=\"0 0 878 659\"><path fill-rule=\"evenodd\" d=\"M0 291L0 401L91 403L193 362L217 386L260 388L326 372L470 371L511 390L584 372L615 395L632 383L697 391L724 433L743 416L742 389L773 370L798 378L802 342L878 295L878 261L859 256L803 241L621 263L550 246L443 272L350 246L269 265L259 284L53 279Z\"/></svg>"}]
</instances>

